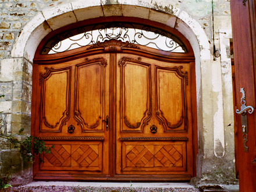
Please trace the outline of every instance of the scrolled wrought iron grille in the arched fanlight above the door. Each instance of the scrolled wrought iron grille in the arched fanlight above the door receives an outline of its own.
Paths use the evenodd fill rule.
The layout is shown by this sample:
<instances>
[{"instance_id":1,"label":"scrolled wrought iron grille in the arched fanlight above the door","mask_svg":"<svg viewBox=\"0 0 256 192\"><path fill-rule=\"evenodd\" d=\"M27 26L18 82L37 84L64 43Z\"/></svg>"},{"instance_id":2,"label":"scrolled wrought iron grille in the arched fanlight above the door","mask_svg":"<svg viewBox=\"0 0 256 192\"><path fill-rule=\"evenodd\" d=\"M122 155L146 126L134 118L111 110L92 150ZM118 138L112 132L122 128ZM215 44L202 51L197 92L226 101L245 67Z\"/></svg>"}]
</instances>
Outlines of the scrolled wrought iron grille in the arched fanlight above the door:
<instances>
[{"instance_id":1,"label":"scrolled wrought iron grille in the arched fanlight above the door","mask_svg":"<svg viewBox=\"0 0 256 192\"><path fill-rule=\"evenodd\" d=\"M186 52L182 41L166 31L134 23L101 23L56 35L44 45L41 54L56 54L113 39L162 51Z\"/></svg>"}]
</instances>

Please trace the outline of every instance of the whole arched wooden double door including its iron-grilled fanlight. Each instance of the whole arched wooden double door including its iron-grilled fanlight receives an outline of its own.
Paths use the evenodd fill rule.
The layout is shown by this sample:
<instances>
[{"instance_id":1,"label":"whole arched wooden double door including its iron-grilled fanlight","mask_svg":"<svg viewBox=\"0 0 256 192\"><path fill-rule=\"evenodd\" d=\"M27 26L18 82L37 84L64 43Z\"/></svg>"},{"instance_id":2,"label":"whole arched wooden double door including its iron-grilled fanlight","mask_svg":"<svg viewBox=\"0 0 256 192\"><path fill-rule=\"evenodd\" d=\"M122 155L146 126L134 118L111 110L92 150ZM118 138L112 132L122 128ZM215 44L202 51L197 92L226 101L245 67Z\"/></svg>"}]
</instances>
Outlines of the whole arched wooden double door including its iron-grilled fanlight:
<instances>
[{"instance_id":1,"label":"whole arched wooden double door including its iron-grilled fanlight","mask_svg":"<svg viewBox=\"0 0 256 192\"><path fill-rule=\"evenodd\" d=\"M35 163L34 179L195 176L191 46L170 27L127 20L87 20L50 33L39 45L33 66L32 134L55 147L44 162ZM127 33L133 28L139 32ZM162 40L154 35L172 42L165 44L170 49L161 47ZM150 41L136 39L143 37ZM91 41L76 41L81 38ZM65 40L71 43L58 51Z\"/></svg>"}]
</instances>

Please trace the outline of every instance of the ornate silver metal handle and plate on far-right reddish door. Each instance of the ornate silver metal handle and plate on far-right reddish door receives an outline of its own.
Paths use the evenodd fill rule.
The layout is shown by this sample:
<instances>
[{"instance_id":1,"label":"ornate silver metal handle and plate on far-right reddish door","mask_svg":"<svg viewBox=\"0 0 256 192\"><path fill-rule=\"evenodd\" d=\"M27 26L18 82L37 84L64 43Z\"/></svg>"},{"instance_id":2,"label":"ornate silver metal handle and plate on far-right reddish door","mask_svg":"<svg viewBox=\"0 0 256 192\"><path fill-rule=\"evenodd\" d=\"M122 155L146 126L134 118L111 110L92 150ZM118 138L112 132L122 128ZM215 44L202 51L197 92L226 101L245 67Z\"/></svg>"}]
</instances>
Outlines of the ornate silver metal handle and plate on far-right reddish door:
<instances>
[{"instance_id":1,"label":"ornate silver metal handle and plate on far-right reddish door","mask_svg":"<svg viewBox=\"0 0 256 192\"><path fill-rule=\"evenodd\" d=\"M242 94L241 97L241 110L236 109L237 114L241 114L241 125L242 125L242 131L243 131L243 145L244 145L244 151L248 152L248 147L246 146L246 143L248 141L248 128L247 128L247 110L248 113L253 113L254 108L252 106L246 106L246 93L244 91L244 88L240 88L240 93Z\"/></svg>"}]
</instances>

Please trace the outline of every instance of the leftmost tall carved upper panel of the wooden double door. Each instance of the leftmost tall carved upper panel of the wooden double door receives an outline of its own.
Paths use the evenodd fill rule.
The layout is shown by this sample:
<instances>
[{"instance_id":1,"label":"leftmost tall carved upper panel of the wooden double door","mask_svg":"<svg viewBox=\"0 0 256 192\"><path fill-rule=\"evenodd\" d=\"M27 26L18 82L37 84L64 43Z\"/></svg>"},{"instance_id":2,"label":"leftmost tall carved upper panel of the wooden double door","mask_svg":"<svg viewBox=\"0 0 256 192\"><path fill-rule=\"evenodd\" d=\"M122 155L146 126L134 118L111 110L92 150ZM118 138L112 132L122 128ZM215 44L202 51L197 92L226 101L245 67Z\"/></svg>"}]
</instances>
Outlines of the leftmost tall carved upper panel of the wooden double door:
<instances>
[{"instance_id":1,"label":"leftmost tall carved upper panel of the wooden double door","mask_svg":"<svg viewBox=\"0 0 256 192\"><path fill-rule=\"evenodd\" d=\"M46 67L45 70L44 74L40 73L41 131L61 131L70 111L70 67L58 70Z\"/></svg>"}]
</instances>

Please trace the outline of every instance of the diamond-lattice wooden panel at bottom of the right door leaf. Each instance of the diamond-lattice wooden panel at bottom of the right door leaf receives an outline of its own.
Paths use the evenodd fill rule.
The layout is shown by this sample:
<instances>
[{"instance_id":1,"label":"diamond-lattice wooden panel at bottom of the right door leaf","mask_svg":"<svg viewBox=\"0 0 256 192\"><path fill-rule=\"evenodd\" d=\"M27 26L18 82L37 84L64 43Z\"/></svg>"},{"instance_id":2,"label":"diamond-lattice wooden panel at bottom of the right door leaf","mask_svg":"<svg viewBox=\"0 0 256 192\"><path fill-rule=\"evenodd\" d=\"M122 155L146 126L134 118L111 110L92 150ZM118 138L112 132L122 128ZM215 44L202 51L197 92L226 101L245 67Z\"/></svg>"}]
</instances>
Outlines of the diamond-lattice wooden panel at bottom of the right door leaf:
<instances>
[{"instance_id":1,"label":"diamond-lattice wooden panel at bottom of the right door leaf","mask_svg":"<svg viewBox=\"0 0 256 192\"><path fill-rule=\"evenodd\" d=\"M165 142L167 143L167 142ZM125 144L123 169L183 168L184 142L179 144ZM134 170L136 170L134 169Z\"/></svg>"}]
</instances>

